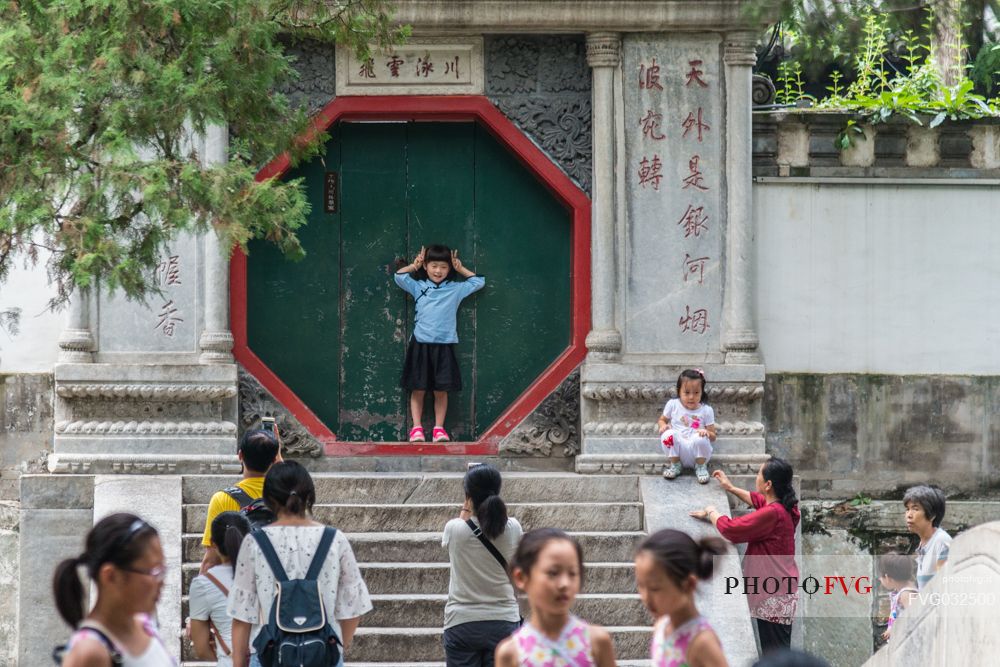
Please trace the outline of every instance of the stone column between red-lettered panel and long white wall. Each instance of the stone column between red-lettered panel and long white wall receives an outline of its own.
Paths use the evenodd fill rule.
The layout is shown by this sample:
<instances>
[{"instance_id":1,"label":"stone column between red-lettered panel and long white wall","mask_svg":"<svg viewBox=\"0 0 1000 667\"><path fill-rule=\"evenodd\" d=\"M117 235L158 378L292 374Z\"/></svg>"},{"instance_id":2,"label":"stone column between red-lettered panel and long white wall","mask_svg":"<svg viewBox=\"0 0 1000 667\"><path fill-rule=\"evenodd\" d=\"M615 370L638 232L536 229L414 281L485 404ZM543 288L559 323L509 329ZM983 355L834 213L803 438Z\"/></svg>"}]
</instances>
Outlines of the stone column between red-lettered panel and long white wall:
<instances>
[{"instance_id":1,"label":"stone column between red-lettered panel and long white wall","mask_svg":"<svg viewBox=\"0 0 1000 667\"><path fill-rule=\"evenodd\" d=\"M726 35L726 173L728 244L722 346L726 363L758 364L753 312L753 194L750 89L757 62L753 33Z\"/></svg>"}]
</instances>

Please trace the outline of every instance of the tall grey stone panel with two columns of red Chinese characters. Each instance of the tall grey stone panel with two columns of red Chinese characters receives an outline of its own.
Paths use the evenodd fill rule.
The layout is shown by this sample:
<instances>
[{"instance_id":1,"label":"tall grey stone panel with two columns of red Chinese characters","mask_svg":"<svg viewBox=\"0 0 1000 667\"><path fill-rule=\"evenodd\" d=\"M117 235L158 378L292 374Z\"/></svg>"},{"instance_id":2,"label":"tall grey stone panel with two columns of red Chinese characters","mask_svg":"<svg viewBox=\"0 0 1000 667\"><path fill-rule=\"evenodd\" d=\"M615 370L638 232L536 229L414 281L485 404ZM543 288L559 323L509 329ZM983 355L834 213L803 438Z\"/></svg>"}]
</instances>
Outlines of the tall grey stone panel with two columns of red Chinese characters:
<instances>
[{"instance_id":1,"label":"tall grey stone panel with two columns of red Chinese characters","mask_svg":"<svg viewBox=\"0 0 1000 667\"><path fill-rule=\"evenodd\" d=\"M725 227L719 41L630 39L624 71L626 188L635 228L628 298L630 310L644 315L630 316L636 334L629 347L718 349Z\"/></svg>"}]
</instances>

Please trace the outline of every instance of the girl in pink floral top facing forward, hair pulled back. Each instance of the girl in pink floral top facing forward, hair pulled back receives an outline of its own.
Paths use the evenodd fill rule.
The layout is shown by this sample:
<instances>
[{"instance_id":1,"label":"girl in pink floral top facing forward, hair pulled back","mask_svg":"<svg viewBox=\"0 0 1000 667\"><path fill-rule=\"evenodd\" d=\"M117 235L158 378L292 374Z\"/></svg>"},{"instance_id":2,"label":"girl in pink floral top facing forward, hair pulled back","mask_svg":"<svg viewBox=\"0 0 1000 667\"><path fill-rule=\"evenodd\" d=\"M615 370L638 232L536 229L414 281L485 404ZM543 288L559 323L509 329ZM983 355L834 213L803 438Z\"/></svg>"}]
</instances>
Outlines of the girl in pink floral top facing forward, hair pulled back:
<instances>
[{"instance_id":1,"label":"girl in pink floral top facing forward, hair pulled back","mask_svg":"<svg viewBox=\"0 0 1000 667\"><path fill-rule=\"evenodd\" d=\"M511 562L531 618L497 646L498 667L614 667L611 635L569 613L583 582L583 549L555 528L527 533Z\"/></svg>"}]
</instances>

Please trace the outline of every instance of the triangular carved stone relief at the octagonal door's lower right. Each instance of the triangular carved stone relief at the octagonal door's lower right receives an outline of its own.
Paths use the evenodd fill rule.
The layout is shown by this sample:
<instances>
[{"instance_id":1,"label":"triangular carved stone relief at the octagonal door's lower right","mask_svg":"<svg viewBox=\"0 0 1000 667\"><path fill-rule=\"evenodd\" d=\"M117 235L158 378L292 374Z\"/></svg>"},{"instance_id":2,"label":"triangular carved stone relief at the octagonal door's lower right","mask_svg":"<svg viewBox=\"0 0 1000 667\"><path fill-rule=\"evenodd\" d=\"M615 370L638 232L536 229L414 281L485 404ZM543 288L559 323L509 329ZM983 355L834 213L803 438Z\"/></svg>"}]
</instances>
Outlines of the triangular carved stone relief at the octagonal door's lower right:
<instances>
[{"instance_id":1,"label":"triangular carved stone relief at the octagonal door's lower right","mask_svg":"<svg viewBox=\"0 0 1000 667\"><path fill-rule=\"evenodd\" d=\"M500 455L580 453L580 371L575 370L500 443Z\"/></svg>"}]
</instances>

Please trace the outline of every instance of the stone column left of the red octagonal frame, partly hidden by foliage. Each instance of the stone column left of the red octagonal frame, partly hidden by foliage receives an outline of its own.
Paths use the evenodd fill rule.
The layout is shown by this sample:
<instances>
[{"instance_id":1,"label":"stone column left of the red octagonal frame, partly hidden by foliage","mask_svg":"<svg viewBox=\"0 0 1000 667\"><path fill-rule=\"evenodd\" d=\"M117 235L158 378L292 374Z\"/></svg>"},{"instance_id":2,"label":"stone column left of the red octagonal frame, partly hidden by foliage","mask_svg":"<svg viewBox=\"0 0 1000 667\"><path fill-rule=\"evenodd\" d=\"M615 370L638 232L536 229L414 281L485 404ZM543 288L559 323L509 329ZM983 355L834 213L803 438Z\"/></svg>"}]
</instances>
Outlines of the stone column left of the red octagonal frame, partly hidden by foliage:
<instances>
[{"instance_id":1,"label":"stone column left of the red octagonal frame, partly hidden by foliage","mask_svg":"<svg viewBox=\"0 0 1000 667\"><path fill-rule=\"evenodd\" d=\"M229 130L211 125L205 131L206 166L225 164L229 159ZM211 230L205 234L205 330L198 341L203 364L233 363L233 334L229 330L228 254Z\"/></svg>"}]
</instances>

